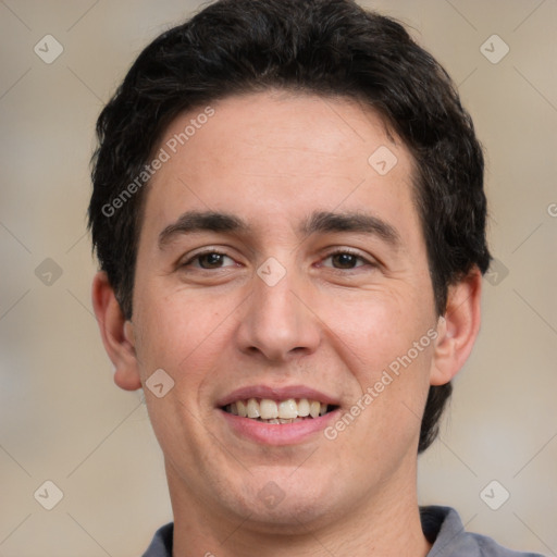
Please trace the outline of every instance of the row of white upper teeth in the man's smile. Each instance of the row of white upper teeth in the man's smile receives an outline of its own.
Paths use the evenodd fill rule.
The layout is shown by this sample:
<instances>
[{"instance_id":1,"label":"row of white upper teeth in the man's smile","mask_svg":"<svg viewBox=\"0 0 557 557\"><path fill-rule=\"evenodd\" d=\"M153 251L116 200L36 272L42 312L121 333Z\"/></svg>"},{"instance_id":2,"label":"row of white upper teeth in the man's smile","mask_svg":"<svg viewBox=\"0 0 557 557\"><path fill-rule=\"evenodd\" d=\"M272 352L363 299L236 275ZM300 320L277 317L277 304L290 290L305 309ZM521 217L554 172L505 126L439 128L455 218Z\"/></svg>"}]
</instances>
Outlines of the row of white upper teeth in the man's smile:
<instances>
[{"instance_id":1,"label":"row of white upper teeth in the man's smile","mask_svg":"<svg viewBox=\"0 0 557 557\"><path fill-rule=\"evenodd\" d=\"M226 407L230 412L242 418L253 418L261 420L295 418L318 418L327 410L327 405L319 400L309 400L300 398L298 400L288 398L287 400L271 400L269 398L249 398L247 400L236 400Z\"/></svg>"}]
</instances>

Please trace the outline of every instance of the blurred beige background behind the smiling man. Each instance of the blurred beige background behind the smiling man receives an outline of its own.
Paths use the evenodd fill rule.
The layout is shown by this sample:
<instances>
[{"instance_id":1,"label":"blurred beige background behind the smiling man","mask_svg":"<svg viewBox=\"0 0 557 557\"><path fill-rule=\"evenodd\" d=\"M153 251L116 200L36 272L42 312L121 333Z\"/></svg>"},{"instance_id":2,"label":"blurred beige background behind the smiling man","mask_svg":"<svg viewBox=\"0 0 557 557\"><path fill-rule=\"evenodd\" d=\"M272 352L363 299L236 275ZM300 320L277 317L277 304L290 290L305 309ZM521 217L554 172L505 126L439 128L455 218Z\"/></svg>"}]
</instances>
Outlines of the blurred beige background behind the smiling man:
<instances>
[{"instance_id":1,"label":"blurred beige background behind the smiling man","mask_svg":"<svg viewBox=\"0 0 557 557\"><path fill-rule=\"evenodd\" d=\"M420 500L557 555L557 2L361 3L410 25L446 66L487 154L497 262L480 339L420 460ZM0 1L0 556L138 556L171 520L140 393L113 384L91 313L85 211L103 102L140 49L199 5ZM36 53L46 35L60 47L49 38ZM52 510L45 481L63 494Z\"/></svg>"}]
</instances>

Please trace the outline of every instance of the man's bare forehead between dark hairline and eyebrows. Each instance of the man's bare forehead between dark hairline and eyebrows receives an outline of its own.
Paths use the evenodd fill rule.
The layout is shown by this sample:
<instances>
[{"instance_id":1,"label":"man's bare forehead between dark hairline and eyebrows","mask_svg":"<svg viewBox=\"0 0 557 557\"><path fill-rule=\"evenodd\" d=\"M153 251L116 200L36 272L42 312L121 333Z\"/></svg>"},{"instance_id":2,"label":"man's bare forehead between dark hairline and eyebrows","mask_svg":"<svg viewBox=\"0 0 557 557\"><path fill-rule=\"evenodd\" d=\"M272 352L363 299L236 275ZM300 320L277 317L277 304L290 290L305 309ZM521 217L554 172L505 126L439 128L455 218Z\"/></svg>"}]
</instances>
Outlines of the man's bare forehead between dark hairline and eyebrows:
<instances>
[{"instance_id":1,"label":"man's bare forehead between dark hairline and eyebrows","mask_svg":"<svg viewBox=\"0 0 557 557\"><path fill-rule=\"evenodd\" d=\"M176 117L162 151L166 160L146 191L146 225L164 226L189 209L294 225L338 208L417 225L411 156L355 100L284 91L225 98Z\"/></svg>"}]
</instances>

